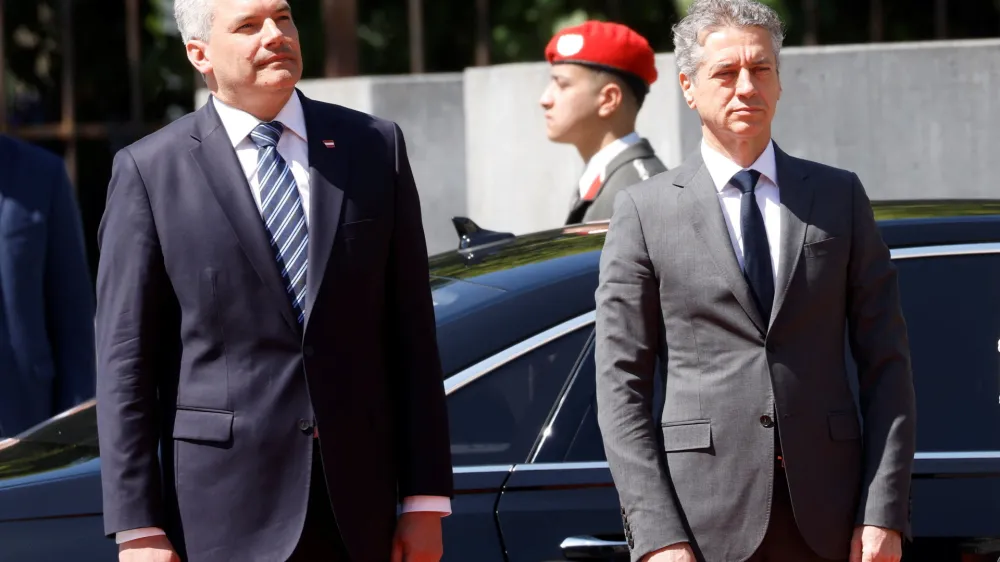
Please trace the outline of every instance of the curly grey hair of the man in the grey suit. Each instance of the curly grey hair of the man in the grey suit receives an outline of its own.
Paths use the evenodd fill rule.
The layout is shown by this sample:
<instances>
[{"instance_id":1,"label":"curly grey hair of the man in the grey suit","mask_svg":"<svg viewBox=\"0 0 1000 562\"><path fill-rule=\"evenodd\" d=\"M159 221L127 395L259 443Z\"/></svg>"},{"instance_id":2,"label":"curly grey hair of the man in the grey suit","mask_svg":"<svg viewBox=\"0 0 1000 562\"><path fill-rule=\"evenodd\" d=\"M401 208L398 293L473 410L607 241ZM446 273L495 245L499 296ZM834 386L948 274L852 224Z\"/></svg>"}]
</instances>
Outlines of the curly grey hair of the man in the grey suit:
<instances>
[{"instance_id":1,"label":"curly grey hair of the man in the grey suit","mask_svg":"<svg viewBox=\"0 0 1000 562\"><path fill-rule=\"evenodd\" d=\"M687 16L673 26L674 59L681 72L695 79L701 66L702 33L723 27L761 27L771 36L775 66L785 40L777 12L757 0L694 0Z\"/></svg>"}]
</instances>

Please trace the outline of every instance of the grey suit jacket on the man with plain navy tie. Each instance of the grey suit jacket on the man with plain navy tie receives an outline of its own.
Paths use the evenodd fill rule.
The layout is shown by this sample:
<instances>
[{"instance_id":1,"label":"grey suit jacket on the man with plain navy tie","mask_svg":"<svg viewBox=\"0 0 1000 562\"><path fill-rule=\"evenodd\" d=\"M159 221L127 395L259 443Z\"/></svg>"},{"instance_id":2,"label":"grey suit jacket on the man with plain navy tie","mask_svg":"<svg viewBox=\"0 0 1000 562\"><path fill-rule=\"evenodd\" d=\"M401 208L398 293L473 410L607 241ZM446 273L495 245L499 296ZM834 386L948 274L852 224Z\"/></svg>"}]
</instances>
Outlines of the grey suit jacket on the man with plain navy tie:
<instances>
[{"instance_id":1,"label":"grey suit jacket on the man with plain navy tie","mask_svg":"<svg viewBox=\"0 0 1000 562\"><path fill-rule=\"evenodd\" d=\"M751 556L776 430L819 555L846 559L856 524L909 535L915 407L896 269L855 174L775 149L771 318L754 307L699 154L616 198L596 293L597 400L633 560L681 541L709 562Z\"/></svg>"}]
</instances>

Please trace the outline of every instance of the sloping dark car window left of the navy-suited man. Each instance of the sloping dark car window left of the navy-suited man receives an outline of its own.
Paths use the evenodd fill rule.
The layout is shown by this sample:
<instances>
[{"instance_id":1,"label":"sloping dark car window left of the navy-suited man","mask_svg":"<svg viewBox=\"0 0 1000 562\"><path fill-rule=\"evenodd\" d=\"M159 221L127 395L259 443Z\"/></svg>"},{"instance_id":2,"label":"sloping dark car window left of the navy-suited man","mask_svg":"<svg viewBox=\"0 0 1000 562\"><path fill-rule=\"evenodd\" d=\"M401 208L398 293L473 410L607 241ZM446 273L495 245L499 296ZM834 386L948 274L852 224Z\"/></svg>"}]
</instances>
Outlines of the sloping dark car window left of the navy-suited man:
<instances>
[{"instance_id":1,"label":"sloping dark car window left of the navy-suited man","mask_svg":"<svg viewBox=\"0 0 1000 562\"><path fill-rule=\"evenodd\" d=\"M93 402L0 441L0 480L34 476L98 457Z\"/></svg>"}]
</instances>

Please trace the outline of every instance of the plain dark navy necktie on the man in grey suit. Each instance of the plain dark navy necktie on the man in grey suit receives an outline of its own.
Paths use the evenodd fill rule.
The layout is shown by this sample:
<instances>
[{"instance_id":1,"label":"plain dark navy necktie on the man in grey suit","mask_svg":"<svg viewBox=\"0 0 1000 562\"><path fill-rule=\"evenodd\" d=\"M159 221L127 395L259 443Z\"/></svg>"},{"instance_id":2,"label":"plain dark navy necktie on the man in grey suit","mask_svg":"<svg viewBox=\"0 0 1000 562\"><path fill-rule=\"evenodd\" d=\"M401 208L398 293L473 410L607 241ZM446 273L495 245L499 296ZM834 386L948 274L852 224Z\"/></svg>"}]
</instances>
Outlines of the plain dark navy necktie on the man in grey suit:
<instances>
[{"instance_id":1,"label":"plain dark navy necktie on the man in grey suit","mask_svg":"<svg viewBox=\"0 0 1000 562\"><path fill-rule=\"evenodd\" d=\"M764 215L757 205L754 193L760 172L741 170L730 181L743 193L740 196L740 230L743 235L743 275L753 292L757 309L765 324L771 319L774 304L774 276L771 269L771 250L764 228Z\"/></svg>"}]
</instances>

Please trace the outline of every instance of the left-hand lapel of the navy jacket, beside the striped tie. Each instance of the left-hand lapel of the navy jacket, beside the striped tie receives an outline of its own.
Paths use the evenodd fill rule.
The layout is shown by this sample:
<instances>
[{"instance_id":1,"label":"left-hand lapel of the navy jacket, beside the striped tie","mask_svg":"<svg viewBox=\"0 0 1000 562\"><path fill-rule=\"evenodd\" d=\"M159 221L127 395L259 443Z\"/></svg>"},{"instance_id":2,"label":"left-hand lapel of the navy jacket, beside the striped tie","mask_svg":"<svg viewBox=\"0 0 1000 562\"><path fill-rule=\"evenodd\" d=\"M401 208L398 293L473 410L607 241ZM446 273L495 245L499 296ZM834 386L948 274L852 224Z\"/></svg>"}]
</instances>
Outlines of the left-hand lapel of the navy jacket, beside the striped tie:
<instances>
[{"instance_id":1,"label":"left-hand lapel of the navy jacket, beside the striped tie","mask_svg":"<svg viewBox=\"0 0 1000 562\"><path fill-rule=\"evenodd\" d=\"M257 275L277 299L276 304L289 327L298 331L292 303L278 271L260 211L211 99L198 110L195 119L195 134L192 136L201 143L191 149L191 155L208 180L209 188L229 219L229 224Z\"/></svg>"}]
</instances>

